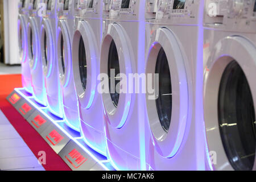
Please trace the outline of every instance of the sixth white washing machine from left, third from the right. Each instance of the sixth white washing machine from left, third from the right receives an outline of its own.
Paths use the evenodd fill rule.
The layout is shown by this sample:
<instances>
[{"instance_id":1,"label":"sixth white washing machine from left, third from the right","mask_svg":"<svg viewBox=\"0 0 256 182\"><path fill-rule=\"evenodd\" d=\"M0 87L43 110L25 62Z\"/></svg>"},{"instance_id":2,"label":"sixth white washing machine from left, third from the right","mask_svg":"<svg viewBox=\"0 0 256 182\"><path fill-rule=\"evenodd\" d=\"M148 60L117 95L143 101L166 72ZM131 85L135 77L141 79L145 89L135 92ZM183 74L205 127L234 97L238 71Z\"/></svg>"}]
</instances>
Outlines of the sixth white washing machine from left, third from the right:
<instances>
[{"instance_id":1,"label":"sixth white washing machine from left, third from the right","mask_svg":"<svg viewBox=\"0 0 256 182\"><path fill-rule=\"evenodd\" d=\"M138 92L141 86L133 78L128 81L144 72L144 7L143 0L113 0L109 18L104 19L100 90L107 157L118 170L146 169L143 92Z\"/></svg>"}]
</instances>

